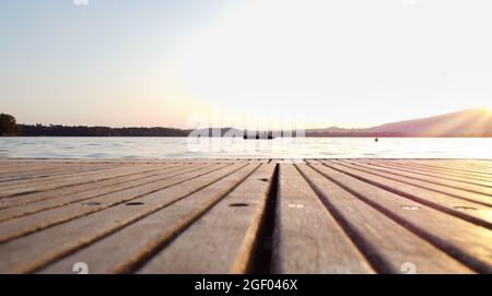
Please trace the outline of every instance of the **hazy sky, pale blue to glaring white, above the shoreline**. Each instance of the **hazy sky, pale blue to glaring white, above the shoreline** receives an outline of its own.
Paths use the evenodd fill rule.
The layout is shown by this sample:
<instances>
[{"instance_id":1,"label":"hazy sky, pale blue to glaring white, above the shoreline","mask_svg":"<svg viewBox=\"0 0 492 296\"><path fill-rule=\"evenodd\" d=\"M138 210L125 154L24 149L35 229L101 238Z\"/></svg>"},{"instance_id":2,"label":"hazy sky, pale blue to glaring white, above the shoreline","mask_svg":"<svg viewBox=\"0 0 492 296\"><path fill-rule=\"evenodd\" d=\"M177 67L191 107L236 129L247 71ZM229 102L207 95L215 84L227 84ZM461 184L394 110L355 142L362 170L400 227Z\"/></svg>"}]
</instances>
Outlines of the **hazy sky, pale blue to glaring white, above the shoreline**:
<instances>
[{"instance_id":1,"label":"hazy sky, pale blue to glaring white, above the shoreline","mask_svg":"<svg viewBox=\"0 0 492 296\"><path fill-rule=\"evenodd\" d=\"M490 0L0 0L0 111L363 127L492 107ZM271 117L270 117L271 116Z\"/></svg>"}]
</instances>

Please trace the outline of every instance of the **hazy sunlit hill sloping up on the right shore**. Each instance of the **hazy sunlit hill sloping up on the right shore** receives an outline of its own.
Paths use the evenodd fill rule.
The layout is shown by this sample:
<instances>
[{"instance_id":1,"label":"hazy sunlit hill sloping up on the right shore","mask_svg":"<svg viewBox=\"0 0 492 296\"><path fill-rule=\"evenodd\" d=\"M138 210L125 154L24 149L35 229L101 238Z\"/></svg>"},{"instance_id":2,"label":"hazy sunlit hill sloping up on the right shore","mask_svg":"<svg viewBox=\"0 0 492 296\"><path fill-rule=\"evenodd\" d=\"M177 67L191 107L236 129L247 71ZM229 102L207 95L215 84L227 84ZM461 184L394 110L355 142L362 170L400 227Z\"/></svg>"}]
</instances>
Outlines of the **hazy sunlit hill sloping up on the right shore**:
<instances>
[{"instance_id":1,"label":"hazy sunlit hill sloping up on the right shore","mask_svg":"<svg viewBox=\"0 0 492 296\"><path fill-rule=\"evenodd\" d=\"M467 109L457 113L386 123L366 129L307 130L308 137L492 137L492 113Z\"/></svg>"}]
</instances>

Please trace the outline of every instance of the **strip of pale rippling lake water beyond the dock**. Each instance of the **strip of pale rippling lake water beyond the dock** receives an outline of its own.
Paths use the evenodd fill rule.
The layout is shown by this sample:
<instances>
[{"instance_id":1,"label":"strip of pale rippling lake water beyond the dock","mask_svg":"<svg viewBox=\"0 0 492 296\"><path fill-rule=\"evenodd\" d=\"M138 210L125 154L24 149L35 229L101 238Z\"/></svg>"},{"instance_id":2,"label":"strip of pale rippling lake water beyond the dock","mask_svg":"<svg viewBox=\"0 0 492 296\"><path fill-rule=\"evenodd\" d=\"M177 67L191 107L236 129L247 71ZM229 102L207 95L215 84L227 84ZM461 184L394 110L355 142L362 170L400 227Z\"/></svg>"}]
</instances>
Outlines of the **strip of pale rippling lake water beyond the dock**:
<instances>
[{"instance_id":1,"label":"strip of pale rippling lake water beyond the dock","mask_svg":"<svg viewBox=\"0 0 492 296\"><path fill-rule=\"evenodd\" d=\"M492 158L492 139L0 138L0 157Z\"/></svg>"}]
</instances>

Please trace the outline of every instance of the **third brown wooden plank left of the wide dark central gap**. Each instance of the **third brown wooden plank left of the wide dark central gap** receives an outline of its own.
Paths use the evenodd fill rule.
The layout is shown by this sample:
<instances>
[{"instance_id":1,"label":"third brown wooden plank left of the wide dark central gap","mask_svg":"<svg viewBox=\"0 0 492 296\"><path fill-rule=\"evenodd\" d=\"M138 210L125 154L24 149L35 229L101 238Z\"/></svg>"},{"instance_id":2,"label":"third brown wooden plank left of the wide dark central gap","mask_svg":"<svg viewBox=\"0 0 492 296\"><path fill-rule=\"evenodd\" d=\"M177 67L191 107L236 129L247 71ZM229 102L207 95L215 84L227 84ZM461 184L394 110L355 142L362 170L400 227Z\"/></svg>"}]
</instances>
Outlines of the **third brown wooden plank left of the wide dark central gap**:
<instances>
[{"instance_id":1,"label":"third brown wooden plank left of the wide dark central gap","mask_svg":"<svg viewBox=\"0 0 492 296\"><path fill-rule=\"evenodd\" d=\"M0 272L26 273L160 211L245 166L219 170L141 197L139 203L119 204L0 245ZM33 246L35 246L33 248ZM7 256L8 254L8 256Z\"/></svg>"}]
</instances>

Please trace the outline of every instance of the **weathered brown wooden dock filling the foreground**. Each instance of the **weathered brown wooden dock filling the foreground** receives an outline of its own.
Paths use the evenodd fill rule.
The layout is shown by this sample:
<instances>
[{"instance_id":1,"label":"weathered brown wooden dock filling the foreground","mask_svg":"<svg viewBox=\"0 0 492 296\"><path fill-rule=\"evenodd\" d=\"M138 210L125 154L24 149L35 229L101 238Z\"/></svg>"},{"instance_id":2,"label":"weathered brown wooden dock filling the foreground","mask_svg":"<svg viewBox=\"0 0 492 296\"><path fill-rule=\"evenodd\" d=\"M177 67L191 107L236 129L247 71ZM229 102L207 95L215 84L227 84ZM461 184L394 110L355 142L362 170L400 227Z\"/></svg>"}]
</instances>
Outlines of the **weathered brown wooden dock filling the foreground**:
<instances>
[{"instance_id":1,"label":"weathered brown wooden dock filling the foreground","mask_svg":"<svg viewBox=\"0 0 492 296\"><path fill-rule=\"evenodd\" d=\"M0 273L492 273L491 206L487 159L0 159Z\"/></svg>"}]
</instances>

